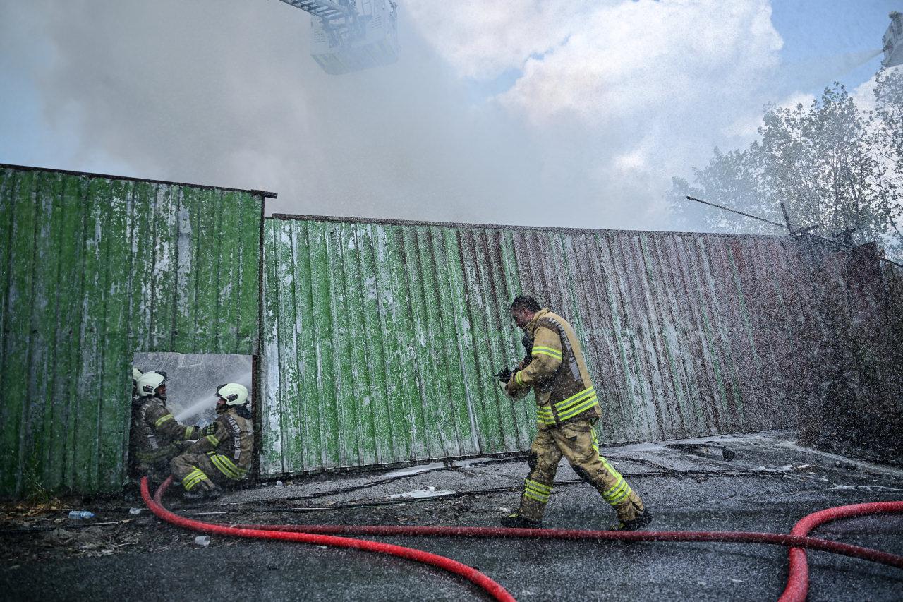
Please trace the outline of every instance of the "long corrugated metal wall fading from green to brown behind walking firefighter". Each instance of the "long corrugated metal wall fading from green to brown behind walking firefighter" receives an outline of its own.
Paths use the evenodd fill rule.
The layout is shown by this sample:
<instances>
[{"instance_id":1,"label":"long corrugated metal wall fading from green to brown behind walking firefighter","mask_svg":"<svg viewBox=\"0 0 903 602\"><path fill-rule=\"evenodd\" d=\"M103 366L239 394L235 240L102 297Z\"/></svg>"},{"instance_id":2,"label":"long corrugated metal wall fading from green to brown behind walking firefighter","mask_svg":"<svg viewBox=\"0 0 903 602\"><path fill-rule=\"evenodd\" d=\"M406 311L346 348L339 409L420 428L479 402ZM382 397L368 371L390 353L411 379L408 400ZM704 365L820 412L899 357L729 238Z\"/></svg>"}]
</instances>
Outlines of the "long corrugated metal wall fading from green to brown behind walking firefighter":
<instances>
[{"instance_id":1,"label":"long corrugated metal wall fading from green to brown behind walking firefighter","mask_svg":"<svg viewBox=\"0 0 903 602\"><path fill-rule=\"evenodd\" d=\"M261 473L523 450L522 291L567 317L605 442L785 427L810 278L790 237L265 221Z\"/></svg>"}]
</instances>

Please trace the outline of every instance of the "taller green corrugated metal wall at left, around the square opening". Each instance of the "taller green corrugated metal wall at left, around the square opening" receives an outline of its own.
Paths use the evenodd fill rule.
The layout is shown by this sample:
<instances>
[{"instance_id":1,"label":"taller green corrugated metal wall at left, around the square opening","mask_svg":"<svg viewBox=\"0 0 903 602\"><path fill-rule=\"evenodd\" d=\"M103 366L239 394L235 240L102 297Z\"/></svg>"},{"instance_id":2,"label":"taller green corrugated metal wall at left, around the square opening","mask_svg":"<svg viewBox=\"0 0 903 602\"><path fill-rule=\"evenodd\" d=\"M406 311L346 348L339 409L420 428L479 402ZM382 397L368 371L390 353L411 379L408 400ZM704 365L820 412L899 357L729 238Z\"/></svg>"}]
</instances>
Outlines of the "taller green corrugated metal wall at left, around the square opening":
<instances>
[{"instance_id":1,"label":"taller green corrugated metal wall at left, around the square opening","mask_svg":"<svg viewBox=\"0 0 903 602\"><path fill-rule=\"evenodd\" d=\"M255 353L262 194L0 165L0 495L121 487L133 353Z\"/></svg>"}]
</instances>

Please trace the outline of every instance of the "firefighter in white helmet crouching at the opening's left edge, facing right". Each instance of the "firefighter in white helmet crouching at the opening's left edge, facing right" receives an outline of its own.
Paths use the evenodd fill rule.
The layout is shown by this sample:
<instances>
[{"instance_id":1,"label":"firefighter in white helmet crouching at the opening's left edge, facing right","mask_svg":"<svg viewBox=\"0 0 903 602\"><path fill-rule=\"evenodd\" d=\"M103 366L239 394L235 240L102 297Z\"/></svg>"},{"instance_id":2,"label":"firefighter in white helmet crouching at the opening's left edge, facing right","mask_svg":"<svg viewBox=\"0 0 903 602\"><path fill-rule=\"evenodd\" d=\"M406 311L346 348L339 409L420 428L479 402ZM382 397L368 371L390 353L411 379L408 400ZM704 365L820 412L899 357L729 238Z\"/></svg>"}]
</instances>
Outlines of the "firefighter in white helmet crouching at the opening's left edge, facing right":
<instances>
[{"instance_id":1,"label":"firefighter in white helmet crouching at the opening's left edge, facing right","mask_svg":"<svg viewBox=\"0 0 903 602\"><path fill-rule=\"evenodd\" d=\"M170 460L182 453L184 442L198 437L197 429L180 423L166 408L166 372L132 370L129 457L137 475L159 483L169 475Z\"/></svg>"}]
</instances>

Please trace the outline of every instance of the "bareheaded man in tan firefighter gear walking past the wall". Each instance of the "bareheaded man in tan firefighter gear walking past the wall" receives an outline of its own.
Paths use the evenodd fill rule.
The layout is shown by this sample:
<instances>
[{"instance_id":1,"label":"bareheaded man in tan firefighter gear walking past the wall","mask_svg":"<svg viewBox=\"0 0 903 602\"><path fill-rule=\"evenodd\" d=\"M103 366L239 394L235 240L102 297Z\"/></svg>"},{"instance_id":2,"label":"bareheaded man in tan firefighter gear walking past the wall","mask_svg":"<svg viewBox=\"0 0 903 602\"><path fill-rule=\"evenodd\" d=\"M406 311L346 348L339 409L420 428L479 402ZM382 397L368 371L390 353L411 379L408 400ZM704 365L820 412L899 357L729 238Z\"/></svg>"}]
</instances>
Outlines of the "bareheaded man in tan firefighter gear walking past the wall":
<instances>
[{"instance_id":1,"label":"bareheaded man in tan firefighter gear walking past the wall","mask_svg":"<svg viewBox=\"0 0 903 602\"><path fill-rule=\"evenodd\" d=\"M521 362L513 374L499 372L499 379L507 377L505 390L515 399L534 390L538 432L530 446L530 472L520 508L503 517L502 525L540 526L562 456L614 508L619 522L612 530L647 525L652 515L642 500L599 454L594 428L601 416L599 400L573 328L548 307L540 309L532 296L518 296L511 304L511 317L532 342L529 361Z\"/></svg>"}]
</instances>

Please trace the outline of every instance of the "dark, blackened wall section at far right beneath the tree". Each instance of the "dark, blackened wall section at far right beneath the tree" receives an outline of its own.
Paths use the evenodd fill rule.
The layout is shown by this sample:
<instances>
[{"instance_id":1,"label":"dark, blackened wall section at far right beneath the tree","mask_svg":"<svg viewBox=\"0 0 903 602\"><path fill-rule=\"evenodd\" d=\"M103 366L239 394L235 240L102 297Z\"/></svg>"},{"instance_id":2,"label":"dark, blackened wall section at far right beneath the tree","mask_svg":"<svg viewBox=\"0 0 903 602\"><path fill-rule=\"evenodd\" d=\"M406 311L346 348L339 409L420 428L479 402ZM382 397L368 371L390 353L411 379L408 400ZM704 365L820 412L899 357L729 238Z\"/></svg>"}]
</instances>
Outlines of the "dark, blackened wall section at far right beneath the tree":
<instances>
[{"instance_id":1,"label":"dark, blackened wall section at far right beneath the tree","mask_svg":"<svg viewBox=\"0 0 903 602\"><path fill-rule=\"evenodd\" d=\"M810 306L801 332L799 439L878 462L903 462L903 267L874 244L812 249Z\"/></svg>"}]
</instances>

